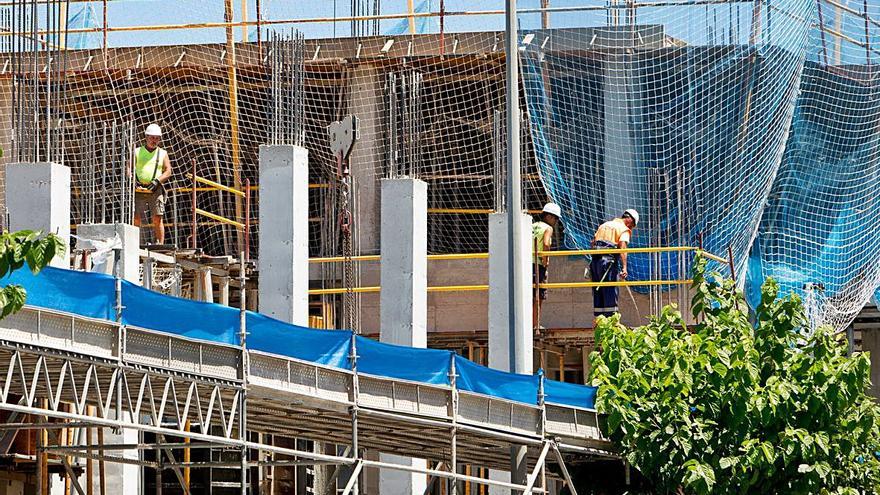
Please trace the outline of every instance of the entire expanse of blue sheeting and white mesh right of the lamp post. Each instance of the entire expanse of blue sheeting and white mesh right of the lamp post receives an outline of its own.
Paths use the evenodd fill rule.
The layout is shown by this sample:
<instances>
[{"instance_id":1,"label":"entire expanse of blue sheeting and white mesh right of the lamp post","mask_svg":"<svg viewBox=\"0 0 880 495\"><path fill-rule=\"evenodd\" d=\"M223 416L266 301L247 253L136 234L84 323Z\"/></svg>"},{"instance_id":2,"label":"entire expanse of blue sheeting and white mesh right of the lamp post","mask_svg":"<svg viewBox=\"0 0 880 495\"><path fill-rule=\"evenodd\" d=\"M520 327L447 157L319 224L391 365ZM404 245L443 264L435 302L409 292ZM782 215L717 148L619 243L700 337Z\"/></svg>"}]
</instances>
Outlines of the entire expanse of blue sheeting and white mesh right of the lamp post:
<instances>
[{"instance_id":1,"label":"entire expanse of blue sheeting and white mesh right of the lamp post","mask_svg":"<svg viewBox=\"0 0 880 495\"><path fill-rule=\"evenodd\" d=\"M632 247L731 248L751 304L773 277L813 324L842 329L880 283L876 27L867 4L764 7L675 4L634 26L609 12L607 27L530 33L531 149L570 245L637 208ZM685 278L690 261L632 255L630 278Z\"/></svg>"}]
</instances>

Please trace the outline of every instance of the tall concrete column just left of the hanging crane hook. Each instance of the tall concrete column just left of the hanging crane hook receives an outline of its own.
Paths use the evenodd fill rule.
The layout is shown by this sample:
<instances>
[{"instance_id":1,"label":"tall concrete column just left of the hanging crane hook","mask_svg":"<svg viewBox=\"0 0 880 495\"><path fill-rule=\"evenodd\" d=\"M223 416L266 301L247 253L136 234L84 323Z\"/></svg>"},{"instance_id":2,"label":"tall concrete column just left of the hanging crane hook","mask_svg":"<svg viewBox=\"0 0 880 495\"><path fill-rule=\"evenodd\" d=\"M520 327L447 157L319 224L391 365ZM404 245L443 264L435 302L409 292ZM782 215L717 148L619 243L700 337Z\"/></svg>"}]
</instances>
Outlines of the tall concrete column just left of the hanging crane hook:
<instances>
[{"instance_id":1,"label":"tall concrete column just left of the hanging crane hook","mask_svg":"<svg viewBox=\"0 0 880 495\"><path fill-rule=\"evenodd\" d=\"M309 322L309 151L260 146L260 312Z\"/></svg>"}]
</instances>

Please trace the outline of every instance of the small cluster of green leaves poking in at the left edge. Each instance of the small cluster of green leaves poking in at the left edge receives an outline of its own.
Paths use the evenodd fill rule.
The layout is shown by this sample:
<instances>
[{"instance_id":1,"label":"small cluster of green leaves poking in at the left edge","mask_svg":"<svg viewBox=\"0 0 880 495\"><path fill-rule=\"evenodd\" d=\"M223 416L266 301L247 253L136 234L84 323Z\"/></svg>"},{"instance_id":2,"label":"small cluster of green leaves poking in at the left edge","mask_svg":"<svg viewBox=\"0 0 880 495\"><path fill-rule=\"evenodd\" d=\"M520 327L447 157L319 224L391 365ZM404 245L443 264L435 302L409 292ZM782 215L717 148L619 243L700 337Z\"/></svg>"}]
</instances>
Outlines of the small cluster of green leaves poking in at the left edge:
<instances>
[{"instance_id":1,"label":"small cluster of green leaves poking in at the left edge","mask_svg":"<svg viewBox=\"0 0 880 495\"><path fill-rule=\"evenodd\" d=\"M0 234L0 278L18 270L27 263L34 274L46 267L56 255L65 252L64 241L55 234L42 235L39 231L21 230ZM0 318L17 312L24 306L27 292L24 287L9 284L0 290Z\"/></svg>"}]
</instances>

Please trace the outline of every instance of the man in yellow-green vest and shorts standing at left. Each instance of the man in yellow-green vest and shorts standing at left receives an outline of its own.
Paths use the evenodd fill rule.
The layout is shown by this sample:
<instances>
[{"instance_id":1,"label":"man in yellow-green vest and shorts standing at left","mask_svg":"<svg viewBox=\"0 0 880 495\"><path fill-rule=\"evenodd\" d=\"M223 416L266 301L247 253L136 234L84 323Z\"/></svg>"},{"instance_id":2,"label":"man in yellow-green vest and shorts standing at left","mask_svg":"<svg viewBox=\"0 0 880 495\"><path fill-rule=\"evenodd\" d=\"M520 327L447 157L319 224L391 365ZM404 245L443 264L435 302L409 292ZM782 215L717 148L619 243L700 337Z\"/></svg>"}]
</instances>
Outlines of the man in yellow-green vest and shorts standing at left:
<instances>
[{"instance_id":1,"label":"man in yellow-green vest and shorts standing at left","mask_svg":"<svg viewBox=\"0 0 880 495\"><path fill-rule=\"evenodd\" d=\"M162 128L150 124L144 131L145 143L134 152L134 224L141 226L141 218L149 215L157 244L165 243L165 183L171 178L171 160L168 152L159 147Z\"/></svg>"}]
</instances>

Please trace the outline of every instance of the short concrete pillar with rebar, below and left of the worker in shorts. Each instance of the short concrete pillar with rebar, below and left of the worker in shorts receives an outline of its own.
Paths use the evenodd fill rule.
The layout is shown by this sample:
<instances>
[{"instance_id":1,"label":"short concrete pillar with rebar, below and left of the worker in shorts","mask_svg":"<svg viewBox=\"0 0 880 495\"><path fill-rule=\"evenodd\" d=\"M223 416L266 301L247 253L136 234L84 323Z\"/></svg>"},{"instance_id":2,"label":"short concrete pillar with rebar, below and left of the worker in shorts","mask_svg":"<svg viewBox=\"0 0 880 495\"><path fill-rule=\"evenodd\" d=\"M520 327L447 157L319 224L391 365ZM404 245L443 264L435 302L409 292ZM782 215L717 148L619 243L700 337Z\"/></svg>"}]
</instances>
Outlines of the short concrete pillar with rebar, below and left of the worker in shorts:
<instances>
[{"instance_id":1,"label":"short concrete pillar with rebar, below and left of the worker in shorts","mask_svg":"<svg viewBox=\"0 0 880 495\"><path fill-rule=\"evenodd\" d=\"M140 283L140 229L126 223L82 224L76 226L76 235L80 249L92 250L91 271L107 275L114 275L113 247L118 239L118 246L122 249L119 267L122 278Z\"/></svg>"}]
</instances>

